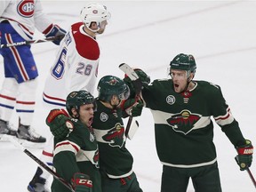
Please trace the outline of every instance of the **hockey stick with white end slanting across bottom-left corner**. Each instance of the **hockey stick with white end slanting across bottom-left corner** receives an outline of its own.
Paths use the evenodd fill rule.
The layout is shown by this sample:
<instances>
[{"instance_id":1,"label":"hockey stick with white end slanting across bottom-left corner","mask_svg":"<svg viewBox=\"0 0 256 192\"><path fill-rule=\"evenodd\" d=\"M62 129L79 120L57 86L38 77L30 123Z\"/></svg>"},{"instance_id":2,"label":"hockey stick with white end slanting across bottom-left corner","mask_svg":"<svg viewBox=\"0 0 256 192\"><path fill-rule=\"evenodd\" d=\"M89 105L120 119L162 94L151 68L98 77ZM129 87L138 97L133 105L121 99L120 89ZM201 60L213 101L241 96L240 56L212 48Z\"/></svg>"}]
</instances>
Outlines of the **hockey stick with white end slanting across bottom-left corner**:
<instances>
[{"instance_id":1,"label":"hockey stick with white end slanting across bottom-left corner","mask_svg":"<svg viewBox=\"0 0 256 192\"><path fill-rule=\"evenodd\" d=\"M30 151L28 151L27 148L24 148L22 145L17 140L14 140L13 138L8 138L12 144L20 148L25 154L27 154L30 158L32 158L37 164L39 164L41 167L44 168L47 172L52 174L52 176L56 179L59 180L64 186L66 186L70 191L75 192L74 188L72 187L71 184L69 184L66 180L62 179L56 172L52 171L51 168L49 168L44 162L42 162L40 159L38 159L36 156L34 156Z\"/></svg>"}]
</instances>

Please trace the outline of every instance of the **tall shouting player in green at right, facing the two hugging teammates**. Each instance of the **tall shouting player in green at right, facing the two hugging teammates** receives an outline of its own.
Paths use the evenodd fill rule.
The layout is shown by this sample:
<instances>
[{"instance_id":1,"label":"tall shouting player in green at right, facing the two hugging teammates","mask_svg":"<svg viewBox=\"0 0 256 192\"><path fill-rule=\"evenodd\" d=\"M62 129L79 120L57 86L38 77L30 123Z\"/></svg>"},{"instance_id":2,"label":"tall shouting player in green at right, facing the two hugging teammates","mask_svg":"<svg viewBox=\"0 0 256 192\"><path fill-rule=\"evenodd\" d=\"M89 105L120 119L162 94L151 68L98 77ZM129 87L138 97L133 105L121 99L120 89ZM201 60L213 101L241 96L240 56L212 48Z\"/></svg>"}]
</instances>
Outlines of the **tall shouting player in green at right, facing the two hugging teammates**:
<instances>
[{"instance_id":1,"label":"tall shouting player in green at right, facing the two hugging teammates","mask_svg":"<svg viewBox=\"0 0 256 192\"><path fill-rule=\"evenodd\" d=\"M211 116L236 148L240 170L252 164L252 143L244 139L220 86L195 81L195 74L194 57L180 53L170 63L172 79L157 79L141 91L155 121L161 192L186 192L189 178L196 192L221 191Z\"/></svg>"}]
</instances>

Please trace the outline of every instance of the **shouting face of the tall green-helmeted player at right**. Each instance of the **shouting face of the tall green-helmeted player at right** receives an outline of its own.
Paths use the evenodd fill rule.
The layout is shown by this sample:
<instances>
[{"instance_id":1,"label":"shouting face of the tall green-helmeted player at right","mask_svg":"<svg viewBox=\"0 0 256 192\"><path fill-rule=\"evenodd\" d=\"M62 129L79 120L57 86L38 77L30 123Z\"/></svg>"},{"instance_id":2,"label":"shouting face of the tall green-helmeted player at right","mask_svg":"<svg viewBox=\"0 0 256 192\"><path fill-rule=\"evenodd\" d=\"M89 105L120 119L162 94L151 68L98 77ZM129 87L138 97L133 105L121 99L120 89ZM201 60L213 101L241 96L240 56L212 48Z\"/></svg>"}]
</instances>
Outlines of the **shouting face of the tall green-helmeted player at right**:
<instances>
[{"instance_id":1,"label":"shouting face of the tall green-helmeted player at right","mask_svg":"<svg viewBox=\"0 0 256 192\"><path fill-rule=\"evenodd\" d=\"M171 70L173 88L175 92L183 92L187 88L188 74L185 70Z\"/></svg>"}]
</instances>

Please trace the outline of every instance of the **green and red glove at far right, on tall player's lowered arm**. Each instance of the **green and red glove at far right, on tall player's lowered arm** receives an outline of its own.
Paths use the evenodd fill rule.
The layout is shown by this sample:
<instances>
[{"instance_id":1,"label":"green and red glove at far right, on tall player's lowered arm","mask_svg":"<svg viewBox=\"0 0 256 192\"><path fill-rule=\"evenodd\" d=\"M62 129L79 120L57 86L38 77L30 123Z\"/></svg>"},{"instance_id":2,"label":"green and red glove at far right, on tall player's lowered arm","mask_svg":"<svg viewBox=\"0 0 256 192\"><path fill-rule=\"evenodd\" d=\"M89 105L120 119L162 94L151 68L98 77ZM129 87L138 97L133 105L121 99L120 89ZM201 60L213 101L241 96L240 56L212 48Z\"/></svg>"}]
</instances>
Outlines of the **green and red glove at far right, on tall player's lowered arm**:
<instances>
[{"instance_id":1,"label":"green and red glove at far right, on tall player's lowered arm","mask_svg":"<svg viewBox=\"0 0 256 192\"><path fill-rule=\"evenodd\" d=\"M245 144L236 147L238 155L235 157L236 163L239 165L240 170L244 171L252 164L253 147L250 140L245 140Z\"/></svg>"}]
</instances>

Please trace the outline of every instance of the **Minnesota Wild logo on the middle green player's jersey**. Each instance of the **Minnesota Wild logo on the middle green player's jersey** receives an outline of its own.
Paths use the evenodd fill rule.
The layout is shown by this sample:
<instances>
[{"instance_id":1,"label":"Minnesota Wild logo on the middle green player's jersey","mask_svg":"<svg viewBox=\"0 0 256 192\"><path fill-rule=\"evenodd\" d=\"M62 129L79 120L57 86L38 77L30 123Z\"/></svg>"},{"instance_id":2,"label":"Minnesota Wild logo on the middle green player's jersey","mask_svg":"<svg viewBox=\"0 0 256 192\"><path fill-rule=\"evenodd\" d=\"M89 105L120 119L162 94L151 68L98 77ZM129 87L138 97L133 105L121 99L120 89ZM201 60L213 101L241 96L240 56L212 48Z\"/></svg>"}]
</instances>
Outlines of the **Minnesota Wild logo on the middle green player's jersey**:
<instances>
[{"instance_id":1,"label":"Minnesota Wild logo on the middle green player's jersey","mask_svg":"<svg viewBox=\"0 0 256 192\"><path fill-rule=\"evenodd\" d=\"M108 141L108 145L112 147L122 148L124 144L124 126L116 124L102 139Z\"/></svg>"}]
</instances>

